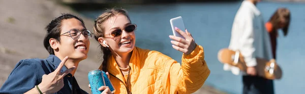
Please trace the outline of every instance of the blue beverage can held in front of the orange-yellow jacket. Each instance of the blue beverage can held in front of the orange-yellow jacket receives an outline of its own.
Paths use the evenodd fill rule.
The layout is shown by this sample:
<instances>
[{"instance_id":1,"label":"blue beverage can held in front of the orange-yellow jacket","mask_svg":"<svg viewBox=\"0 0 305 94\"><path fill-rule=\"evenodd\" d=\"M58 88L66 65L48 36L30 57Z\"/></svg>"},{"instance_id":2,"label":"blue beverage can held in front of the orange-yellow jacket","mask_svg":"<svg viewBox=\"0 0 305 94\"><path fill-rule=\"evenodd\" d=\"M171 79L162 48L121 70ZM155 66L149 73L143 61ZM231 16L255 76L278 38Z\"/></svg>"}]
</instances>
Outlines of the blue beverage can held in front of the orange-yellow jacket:
<instances>
[{"instance_id":1,"label":"blue beverage can held in front of the orange-yellow jacket","mask_svg":"<svg viewBox=\"0 0 305 94\"><path fill-rule=\"evenodd\" d=\"M88 72L88 80L93 94L100 94L102 91L98 90L101 86L105 86L104 76L101 70L93 70ZM107 76L107 75L106 75Z\"/></svg>"}]
</instances>

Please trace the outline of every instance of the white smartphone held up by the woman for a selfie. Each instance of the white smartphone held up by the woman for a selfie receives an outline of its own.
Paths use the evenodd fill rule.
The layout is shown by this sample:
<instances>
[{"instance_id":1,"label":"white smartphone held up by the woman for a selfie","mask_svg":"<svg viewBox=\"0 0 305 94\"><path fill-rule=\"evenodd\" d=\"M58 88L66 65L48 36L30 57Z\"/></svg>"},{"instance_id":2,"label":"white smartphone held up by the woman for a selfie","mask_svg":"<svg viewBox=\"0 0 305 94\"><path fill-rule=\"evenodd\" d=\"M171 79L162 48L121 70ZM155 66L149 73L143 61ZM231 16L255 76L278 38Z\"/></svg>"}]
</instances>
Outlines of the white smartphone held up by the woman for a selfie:
<instances>
[{"instance_id":1,"label":"white smartphone held up by the woman for a selfie","mask_svg":"<svg viewBox=\"0 0 305 94\"><path fill-rule=\"evenodd\" d=\"M172 31L173 31L174 36L178 36L178 37L181 37L181 38L185 39L185 37L183 37L181 34L179 34L175 30L175 27L179 28L182 31L185 31L185 29L186 29L181 16L170 19L170 25L172 27Z\"/></svg>"}]
</instances>

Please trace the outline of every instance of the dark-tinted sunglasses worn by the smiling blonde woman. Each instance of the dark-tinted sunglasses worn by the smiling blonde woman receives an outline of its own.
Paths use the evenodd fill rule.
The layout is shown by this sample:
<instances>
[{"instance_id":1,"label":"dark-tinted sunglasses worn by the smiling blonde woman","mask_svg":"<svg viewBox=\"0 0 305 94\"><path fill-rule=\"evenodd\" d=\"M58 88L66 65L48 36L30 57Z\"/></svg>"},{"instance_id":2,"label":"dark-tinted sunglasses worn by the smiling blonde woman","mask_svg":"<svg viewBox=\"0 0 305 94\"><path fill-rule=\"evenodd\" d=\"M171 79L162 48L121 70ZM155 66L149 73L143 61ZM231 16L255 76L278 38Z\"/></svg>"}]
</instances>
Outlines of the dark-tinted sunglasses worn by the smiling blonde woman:
<instances>
[{"instance_id":1,"label":"dark-tinted sunglasses worn by the smiling blonde woman","mask_svg":"<svg viewBox=\"0 0 305 94\"><path fill-rule=\"evenodd\" d=\"M131 25L126 26L124 29L116 29L116 30L113 30L111 33L106 34L106 35L109 35L109 36L111 35L113 37L116 37L116 36L122 35L123 30L125 30L127 33L131 33L133 31L135 31L136 28L137 28L137 25L131 24Z\"/></svg>"}]
</instances>

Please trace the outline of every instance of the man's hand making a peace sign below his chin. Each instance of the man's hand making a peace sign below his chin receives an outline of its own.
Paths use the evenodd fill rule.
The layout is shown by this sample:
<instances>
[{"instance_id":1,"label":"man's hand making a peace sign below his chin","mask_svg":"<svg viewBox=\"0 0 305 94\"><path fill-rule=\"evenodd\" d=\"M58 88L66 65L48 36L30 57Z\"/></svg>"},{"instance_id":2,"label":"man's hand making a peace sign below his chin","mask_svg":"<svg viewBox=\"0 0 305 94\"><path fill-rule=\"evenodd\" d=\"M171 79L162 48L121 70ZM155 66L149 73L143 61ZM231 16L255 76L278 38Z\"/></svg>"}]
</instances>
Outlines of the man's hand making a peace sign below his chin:
<instances>
[{"instance_id":1,"label":"man's hand making a peace sign below his chin","mask_svg":"<svg viewBox=\"0 0 305 94\"><path fill-rule=\"evenodd\" d=\"M67 60L68 57L65 57L53 72L49 73L48 75L44 74L42 76L42 81L40 84L38 84L38 87L43 93L54 93L64 87L64 77L75 69L75 66L73 66L63 73L60 72Z\"/></svg>"}]
</instances>

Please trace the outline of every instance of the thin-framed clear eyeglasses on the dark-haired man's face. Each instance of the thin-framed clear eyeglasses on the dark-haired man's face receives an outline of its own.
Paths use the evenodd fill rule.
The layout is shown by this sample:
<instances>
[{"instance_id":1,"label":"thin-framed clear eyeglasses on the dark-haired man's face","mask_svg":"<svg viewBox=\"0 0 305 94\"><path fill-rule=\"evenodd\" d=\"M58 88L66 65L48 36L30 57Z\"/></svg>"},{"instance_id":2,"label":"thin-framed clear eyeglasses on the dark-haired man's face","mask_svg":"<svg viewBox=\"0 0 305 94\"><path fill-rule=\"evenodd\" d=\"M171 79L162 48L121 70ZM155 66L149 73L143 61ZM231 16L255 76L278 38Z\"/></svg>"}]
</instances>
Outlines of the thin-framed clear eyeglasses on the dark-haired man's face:
<instances>
[{"instance_id":1,"label":"thin-framed clear eyeglasses on the dark-haired man's face","mask_svg":"<svg viewBox=\"0 0 305 94\"><path fill-rule=\"evenodd\" d=\"M88 40L91 39L93 36L93 33L91 33L91 31L89 31L89 30L84 30L81 32L78 29L71 29L70 31L68 31L66 33L69 33L71 38L74 40L78 39L80 37L80 34L83 34L85 36L85 38ZM66 34L66 33L60 34L60 36Z\"/></svg>"}]
</instances>

